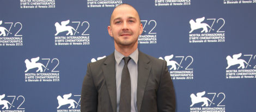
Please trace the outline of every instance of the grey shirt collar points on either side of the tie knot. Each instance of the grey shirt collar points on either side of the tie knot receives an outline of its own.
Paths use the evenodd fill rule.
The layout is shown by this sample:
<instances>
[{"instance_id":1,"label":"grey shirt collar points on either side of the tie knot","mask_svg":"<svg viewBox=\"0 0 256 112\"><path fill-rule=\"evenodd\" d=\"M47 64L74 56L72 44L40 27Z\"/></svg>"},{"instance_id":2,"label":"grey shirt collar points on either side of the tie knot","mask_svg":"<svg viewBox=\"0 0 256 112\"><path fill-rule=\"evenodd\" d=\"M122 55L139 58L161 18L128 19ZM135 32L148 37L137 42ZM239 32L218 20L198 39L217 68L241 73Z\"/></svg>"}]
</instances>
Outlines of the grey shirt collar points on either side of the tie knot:
<instances>
[{"instance_id":1,"label":"grey shirt collar points on either side of the tie knot","mask_svg":"<svg viewBox=\"0 0 256 112\"><path fill-rule=\"evenodd\" d=\"M129 55L129 57L131 57L131 59L137 64L138 63L138 48ZM125 57L123 54L121 54L120 52L118 52L117 50L114 51L114 56L115 56L115 62L117 62L117 64L119 65L121 60Z\"/></svg>"}]
</instances>

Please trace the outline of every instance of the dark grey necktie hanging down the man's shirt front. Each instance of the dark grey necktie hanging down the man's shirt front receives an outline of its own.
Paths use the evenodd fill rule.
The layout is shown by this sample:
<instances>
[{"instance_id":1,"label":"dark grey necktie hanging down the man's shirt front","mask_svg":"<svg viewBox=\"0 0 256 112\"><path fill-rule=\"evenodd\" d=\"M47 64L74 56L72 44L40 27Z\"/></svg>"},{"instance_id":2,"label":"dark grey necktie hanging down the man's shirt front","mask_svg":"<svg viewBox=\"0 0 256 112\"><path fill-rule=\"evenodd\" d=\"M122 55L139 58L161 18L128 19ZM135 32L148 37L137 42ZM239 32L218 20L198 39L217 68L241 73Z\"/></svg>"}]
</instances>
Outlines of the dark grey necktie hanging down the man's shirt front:
<instances>
[{"instance_id":1,"label":"dark grey necktie hanging down the man's shirt front","mask_svg":"<svg viewBox=\"0 0 256 112\"><path fill-rule=\"evenodd\" d=\"M131 112L131 79L128 70L128 62L131 57L124 57L124 68L121 76L121 91L119 112Z\"/></svg>"}]
</instances>

